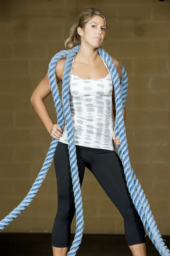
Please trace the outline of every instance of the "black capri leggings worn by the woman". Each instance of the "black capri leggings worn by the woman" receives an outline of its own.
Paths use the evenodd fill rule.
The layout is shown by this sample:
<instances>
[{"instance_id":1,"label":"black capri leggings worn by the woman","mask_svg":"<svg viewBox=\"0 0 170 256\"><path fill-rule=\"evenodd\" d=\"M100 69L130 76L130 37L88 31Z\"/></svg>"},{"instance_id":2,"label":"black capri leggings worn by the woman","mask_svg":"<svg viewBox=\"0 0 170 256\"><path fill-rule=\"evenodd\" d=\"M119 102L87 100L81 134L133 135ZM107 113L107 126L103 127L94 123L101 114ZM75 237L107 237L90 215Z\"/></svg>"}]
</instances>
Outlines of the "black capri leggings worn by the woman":
<instances>
[{"instance_id":1,"label":"black capri leggings worn by the woman","mask_svg":"<svg viewBox=\"0 0 170 256\"><path fill-rule=\"evenodd\" d=\"M115 151L79 145L76 145L76 154L81 185L84 170L87 167L123 216L127 244L146 242L144 226L130 197L124 168L118 154ZM52 229L52 245L69 247L75 202L67 144L58 142L54 164L57 177L58 211Z\"/></svg>"}]
</instances>

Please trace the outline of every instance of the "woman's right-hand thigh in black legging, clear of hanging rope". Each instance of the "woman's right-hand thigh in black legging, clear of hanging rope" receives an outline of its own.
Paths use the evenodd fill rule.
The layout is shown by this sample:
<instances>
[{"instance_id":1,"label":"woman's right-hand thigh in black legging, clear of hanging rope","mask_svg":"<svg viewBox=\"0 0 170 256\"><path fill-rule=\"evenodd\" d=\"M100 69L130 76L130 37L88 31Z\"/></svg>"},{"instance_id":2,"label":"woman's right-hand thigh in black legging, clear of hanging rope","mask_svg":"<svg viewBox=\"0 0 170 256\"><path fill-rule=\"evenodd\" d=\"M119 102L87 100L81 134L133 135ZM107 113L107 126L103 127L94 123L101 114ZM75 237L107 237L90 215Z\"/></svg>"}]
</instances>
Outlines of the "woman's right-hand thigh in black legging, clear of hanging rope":
<instances>
[{"instance_id":1,"label":"woman's right-hand thigh in black legging, clear of hanging rope","mask_svg":"<svg viewBox=\"0 0 170 256\"><path fill-rule=\"evenodd\" d=\"M123 164L115 151L94 151L89 169L124 218L138 214L127 187Z\"/></svg>"}]
</instances>

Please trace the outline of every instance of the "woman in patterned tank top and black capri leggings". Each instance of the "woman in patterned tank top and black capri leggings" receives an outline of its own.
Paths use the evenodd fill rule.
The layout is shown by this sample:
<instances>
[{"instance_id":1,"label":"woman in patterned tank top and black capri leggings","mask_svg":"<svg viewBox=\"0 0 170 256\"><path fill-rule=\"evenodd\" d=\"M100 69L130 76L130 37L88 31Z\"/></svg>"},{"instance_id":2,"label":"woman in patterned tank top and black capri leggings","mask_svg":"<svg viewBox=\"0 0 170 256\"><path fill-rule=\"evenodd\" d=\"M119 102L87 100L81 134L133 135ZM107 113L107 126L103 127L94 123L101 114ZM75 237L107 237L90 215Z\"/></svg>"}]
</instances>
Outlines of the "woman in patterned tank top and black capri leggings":
<instances>
[{"instance_id":1,"label":"woman in patterned tank top and black capri leggings","mask_svg":"<svg viewBox=\"0 0 170 256\"><path fill-rule=\"evenodd\" d=\"M120 139L115 138L113 130L112 107L115 117L115 95L112 77L107 64L98 55L98 47L101 47L105 38L106 28L106 18L101 12L86 10L79 16L78 24L70 29L70 37L65 42L65 46L68 44L70 49L80 44L78 54L72 61L69 80L79 179L82 185L85 167L93 173L124 218L125 236L133 256L146 256L144 226L130 197L124 168L114 147L114 142L120 145ZM121 79L121 65L115 58L112 61ZM63 58L56 66L57 83L63 79L64 63ZM51 87L47 73L32 94L31 102L51 137L59 140L54 155L58 211L52 230L52 250L53 256L66 256L75 203L66 129L62 130L53 124L48 115L43 99L49 93Z\"/></svg>"}]
</instances>

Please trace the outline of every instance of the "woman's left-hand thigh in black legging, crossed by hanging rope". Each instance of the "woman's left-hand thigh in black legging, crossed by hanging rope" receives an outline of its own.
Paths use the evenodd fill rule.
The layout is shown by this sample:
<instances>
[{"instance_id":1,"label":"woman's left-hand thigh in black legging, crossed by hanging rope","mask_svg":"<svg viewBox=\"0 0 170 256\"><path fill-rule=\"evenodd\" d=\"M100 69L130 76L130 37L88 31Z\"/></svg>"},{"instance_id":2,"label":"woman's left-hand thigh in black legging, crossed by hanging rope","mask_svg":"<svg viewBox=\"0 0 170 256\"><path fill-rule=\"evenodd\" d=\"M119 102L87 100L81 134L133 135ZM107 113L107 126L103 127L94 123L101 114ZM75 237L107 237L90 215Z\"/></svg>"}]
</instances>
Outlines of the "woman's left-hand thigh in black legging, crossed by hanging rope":
<instances>
[{"instance_id":1,"label":"woman's left-hand thigh in black legging, crossed by hanging rope","mask_svg":"<svg viewBox=\"0 0 170 256\"><path fill-rule=\"evenodd\" d=\"M81 160L81 157L79 156L77 149L76 154L79 179L80 184L82 185L85 164L84 161ZM69 161L69 149L67 144L61 142L58 143L54 154L54 165L57 178L58 206L60 202L64 200L65 202L70 204L71 207L71 205L74 204L74 193Z\"/></svg>"}]
</instances>

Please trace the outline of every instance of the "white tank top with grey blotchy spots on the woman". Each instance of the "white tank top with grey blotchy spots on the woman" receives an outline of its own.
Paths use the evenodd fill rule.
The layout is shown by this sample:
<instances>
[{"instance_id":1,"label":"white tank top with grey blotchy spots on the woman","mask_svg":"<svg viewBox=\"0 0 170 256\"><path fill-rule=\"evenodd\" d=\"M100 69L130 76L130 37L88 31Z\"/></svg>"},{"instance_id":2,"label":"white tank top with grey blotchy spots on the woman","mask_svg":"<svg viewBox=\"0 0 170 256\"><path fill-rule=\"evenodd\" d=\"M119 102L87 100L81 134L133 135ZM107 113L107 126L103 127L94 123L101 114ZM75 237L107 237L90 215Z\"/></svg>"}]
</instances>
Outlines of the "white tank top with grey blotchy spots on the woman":
<instances>
[{"instance_id":1,"label":"white tank top with grey blotchy spots on the woman","mask_svg":"<svg viewBox=\"0 0 170 256\"><path fill-rule=\"evenodd\" d=\"M104 64L107 67L105 61ZM109 72L108 67L107 70ZM115 150L112 140L113 84L110 72L101 79L83 79L73 74L71 68L69 81L69 102L75 145ZM68 144L66 127L58 141Z\"/></svg>"}]
</instances>

